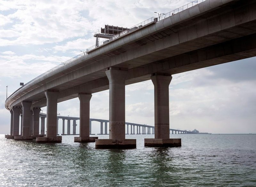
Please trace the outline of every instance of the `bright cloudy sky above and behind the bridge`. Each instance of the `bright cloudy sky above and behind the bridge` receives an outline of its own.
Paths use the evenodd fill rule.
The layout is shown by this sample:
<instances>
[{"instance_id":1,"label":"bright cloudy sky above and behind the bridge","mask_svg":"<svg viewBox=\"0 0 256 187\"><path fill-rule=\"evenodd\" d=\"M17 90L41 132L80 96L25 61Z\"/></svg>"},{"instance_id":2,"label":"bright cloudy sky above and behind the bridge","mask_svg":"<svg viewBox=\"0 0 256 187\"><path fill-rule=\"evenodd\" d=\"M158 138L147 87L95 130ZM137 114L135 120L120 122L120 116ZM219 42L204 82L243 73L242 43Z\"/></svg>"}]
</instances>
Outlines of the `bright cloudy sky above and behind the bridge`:
<instances>
[{"instance_id":1,"label":"bright cloudy sky above and behind the bridge","mask_svg":"<svg viewBox=\"0 0 256 187\"><path fill-rule=\"evenodd\" d=\"M10 96L20 82L27 83L85 51L95 44L93 33L105 24L132 27L157 17L154 12L167 13L189 2L0 0L0 134L10 133L11 115L4 107L7 85ZM170 128L256 133L255 60L172 75ZM126 86L125 99L127 122L154 126L154 86L150 80ZM109 119L108 90L92 94L90 104L91 118ZM46 113L46 107L42 110ZM58 113L79 117L79 99L58 103ZM100 123L93 122L93 126L92 133L99 133Z\"/></svg>"}]
</instances>

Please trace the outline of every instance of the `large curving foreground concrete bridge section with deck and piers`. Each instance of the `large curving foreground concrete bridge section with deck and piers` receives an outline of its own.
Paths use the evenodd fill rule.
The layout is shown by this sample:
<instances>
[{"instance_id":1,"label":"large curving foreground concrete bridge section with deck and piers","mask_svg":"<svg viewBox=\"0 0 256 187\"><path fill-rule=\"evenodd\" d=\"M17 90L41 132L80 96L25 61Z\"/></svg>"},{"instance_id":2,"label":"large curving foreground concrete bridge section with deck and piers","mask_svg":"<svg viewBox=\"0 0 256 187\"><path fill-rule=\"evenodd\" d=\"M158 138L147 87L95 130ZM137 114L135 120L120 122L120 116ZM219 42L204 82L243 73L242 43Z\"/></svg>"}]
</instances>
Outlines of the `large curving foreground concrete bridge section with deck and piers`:
<instances>
[{"instance_id":1,"label":"large curving foreground concrete bridge section with deck and piers","mask_svg":"<svg viewBox=\"0 0 256 187\"><path fill-rule=\"evenodd\" d=\"M125 139L125 85L152 80L155 92L155 138L145 146L181 146L169 136L169 84L172 74L256 56L256 1L196 0L97 43L59 66L39 75L5 101L11 112L11 134L16 140L39 136L40 108L47 106L47 133L36 142L61 142L57 136L57 103L80 100L80 135L76 142L91 142L90 99L109 89L109 139L96 148L135 148ZM18 136L22 108L22 136Z\"/></svg>"}]
</instances>

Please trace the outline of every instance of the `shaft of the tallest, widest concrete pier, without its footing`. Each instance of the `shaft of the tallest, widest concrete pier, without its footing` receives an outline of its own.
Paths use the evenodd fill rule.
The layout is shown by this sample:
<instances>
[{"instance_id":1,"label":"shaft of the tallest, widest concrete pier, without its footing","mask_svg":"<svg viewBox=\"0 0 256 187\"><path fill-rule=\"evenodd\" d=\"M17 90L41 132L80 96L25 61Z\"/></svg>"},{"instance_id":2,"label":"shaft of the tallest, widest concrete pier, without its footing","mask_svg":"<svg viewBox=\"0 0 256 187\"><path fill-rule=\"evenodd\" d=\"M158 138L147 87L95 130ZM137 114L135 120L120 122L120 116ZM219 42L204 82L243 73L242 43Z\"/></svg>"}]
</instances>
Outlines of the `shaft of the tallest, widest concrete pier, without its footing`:
<instances>
[{"instance_id":1,"label":"shaft of the tallest, widest concrete pier, without its footing","mask_svg":"<svg viewBox=\"0 0 256 187\"><path fill-rule=\"evenodd\" d=\"M128 71L109 69L109 139L125 139L125 79Z\"/></svg>"}]
</instances>

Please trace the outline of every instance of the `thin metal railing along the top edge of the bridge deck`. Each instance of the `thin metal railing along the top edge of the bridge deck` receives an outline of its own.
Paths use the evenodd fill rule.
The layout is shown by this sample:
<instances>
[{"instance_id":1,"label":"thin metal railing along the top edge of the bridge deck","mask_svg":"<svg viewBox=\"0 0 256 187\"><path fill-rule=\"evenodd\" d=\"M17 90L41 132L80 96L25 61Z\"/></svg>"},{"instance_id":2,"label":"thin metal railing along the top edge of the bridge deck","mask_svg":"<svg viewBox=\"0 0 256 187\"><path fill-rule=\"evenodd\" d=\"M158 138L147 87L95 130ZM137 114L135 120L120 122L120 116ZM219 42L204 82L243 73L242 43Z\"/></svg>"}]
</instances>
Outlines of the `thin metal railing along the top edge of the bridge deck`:
<instances>
[{"instance_id":1,"label":"thin metal railing along the top edge of the bridge deck","mask_svg":"<svg viewBox=\"0 0 256 187\"><path fill-rule=\"evenodd\" d=\"M193 1L193 2L191 2L191 3L188 3L188 4L184 5L184 6L181 6L181 7L177 8L177 9L171 11L171 12L166 13L165 15L160 16L160 19L159 19L158 21L160 21L160 20L162 20L162 19L165 19L165 18L167 18L167 17L170 17L170 16L172 16L172 15L178 13L178 12L181 12L181 11L183 11L183 10L186 10L186 9L188 9L188 8L190 8L190 7L192 7L192 6L195 6L196 4L202 3L202 2L204 2L204 1L207 1L207 0L195 0L195 1ZM112 38L110 38L110 39L106 39L106 40L104 40L104 41L102 41L102 42L99 42L99 44L98 44L97 46L96 46L96 45L93 45L93 46L87 48L87 49L86 49L86 52L92 51L93 49L96 49L97 47L99 47L99 46L101 46L101 45L107 44L107 43L109 43L109 42L111 42L111 41L116 40L117 38L119 38L119 37L121 37L121 36L123 36L123 35L127 35L128 33L131 33L131 32L133 32L133 31L136 31L136 30L140 29L141 27L144 27L144 26L148 25L149 23L154 22L154 19L155 19L155 17L146 19L145 21L142 21L141 23L139 23L139 24L137 24L137 25L134 25L133 27L130 27L130 28L128 28L127 30L125 30L125 31L123 31L123 32L121 32L121 33L119 33L119 34L114 35L114 36L113 36ZM24 86L27 85L27 84L29 84L30 82L33 82L33 81L39 79L40 77L42 77L42 76L44 76L44 75L46 75L46 74L48 74L48 73L50 73L50 72L52 72L52 71L54 71L54 70L60 68L61 66L65 66L65 65L67 65L68 63L70 63L70 62L72 62L72 61L74 61L74 60L76 60L76 59L78 59L78 58L81 58L81 57L84 56L84 55L87 55L87 54L86 54L85 52L83 52L83 53L81 53L81 54L79 54L79 55L77 55L77 56L75 56L75 57L73 57L73 58L68 59L68 60L65 61L65 62L61 62L61 64L59 64L58 66L55 66L55 67L53 67L52 69L48 70L47 72L44 72L43 74L37 76L36 78L34 78L34 79L32 79L31 81L29 81L29 82L27 82L26 84L24 84ZM19 89L18 89L18 90L19 90ZM15 93L15 92L14 92L14 93ZM9 97L11 97L11 96L12 96L12 95L10 95ZM8 98L9 98L9 97L8 97ZM7 99L8 99L8 98L7 98Z\"/></svg>"}]
</instances>

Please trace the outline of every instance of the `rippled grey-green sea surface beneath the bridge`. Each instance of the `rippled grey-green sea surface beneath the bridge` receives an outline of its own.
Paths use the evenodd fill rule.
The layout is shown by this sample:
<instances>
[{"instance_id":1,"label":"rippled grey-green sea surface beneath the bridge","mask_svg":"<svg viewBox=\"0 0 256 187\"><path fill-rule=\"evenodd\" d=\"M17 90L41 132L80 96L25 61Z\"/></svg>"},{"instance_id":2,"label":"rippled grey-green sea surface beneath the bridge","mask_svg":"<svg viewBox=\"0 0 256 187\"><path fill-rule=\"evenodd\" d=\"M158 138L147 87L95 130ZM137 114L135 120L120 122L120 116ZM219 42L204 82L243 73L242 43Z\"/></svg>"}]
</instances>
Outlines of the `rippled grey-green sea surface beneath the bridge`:
<instances>
[{"instance_id":1,"label":"rippled grey-green sea surface beneath the bridge","mask_svg":"<svg viewBox=\"0 0 256 187\"><path fill-rule=\"evenodd\" d=\"M108 135L98 135L108 138ZM0 186L256 186L256 135L171 135L182 147L97 150L95 143L14 141L0 135Z\"/></svg>"}]
</instances>

